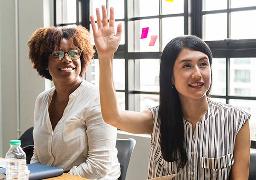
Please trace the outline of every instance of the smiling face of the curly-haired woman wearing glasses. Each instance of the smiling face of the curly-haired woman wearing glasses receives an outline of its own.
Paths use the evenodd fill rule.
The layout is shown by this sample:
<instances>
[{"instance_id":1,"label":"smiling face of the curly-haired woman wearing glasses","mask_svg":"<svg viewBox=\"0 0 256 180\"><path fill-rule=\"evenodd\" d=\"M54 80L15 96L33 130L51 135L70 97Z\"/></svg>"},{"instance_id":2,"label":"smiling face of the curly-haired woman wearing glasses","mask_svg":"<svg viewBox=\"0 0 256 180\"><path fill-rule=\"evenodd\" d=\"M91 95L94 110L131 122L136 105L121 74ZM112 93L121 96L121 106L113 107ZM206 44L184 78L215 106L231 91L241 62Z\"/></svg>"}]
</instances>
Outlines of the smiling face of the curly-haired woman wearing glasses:
<instances>
[{"instance_id":1,"label":"smiling face of the curly-haired woman wearing glasses","mask_svg":"<svg viewBox=\"0 0 256 180\"><path fill-rule=\"evenodd\" d=\"M68 52L72 49L78 48L73 46L69 39L63 38L61 42L61 50ZM63 60L55 61L52 55L49 55L48 70L54 83L81 82L79 77L81 72L80 58L72 60L69 58L68 54L65 54Z\"/></svg>"}]
</instances>

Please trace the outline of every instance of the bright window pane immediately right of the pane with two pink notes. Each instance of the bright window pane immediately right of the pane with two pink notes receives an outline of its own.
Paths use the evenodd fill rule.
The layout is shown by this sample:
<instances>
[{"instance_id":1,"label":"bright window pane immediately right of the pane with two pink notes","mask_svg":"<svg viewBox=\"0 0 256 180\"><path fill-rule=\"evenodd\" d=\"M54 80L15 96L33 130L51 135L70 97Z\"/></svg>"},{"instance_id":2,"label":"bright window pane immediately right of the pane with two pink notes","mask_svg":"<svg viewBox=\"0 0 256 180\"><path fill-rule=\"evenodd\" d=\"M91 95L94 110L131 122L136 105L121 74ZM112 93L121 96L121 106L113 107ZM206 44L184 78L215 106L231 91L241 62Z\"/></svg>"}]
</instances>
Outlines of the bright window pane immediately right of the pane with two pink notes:
<instances>
[{"instance_id":1,"label":"bright window pane immediately right of the pane with two pink notes","mask_svg":"<svg viewBox=\"0 0 256 180\"><path fill-rule=\"evenodd\" d=\"M174 25L175 24L175 28ZM174 37L184 35L184 17L162 19L162 47L165 48Z\"/></svg>"}]
</instances>

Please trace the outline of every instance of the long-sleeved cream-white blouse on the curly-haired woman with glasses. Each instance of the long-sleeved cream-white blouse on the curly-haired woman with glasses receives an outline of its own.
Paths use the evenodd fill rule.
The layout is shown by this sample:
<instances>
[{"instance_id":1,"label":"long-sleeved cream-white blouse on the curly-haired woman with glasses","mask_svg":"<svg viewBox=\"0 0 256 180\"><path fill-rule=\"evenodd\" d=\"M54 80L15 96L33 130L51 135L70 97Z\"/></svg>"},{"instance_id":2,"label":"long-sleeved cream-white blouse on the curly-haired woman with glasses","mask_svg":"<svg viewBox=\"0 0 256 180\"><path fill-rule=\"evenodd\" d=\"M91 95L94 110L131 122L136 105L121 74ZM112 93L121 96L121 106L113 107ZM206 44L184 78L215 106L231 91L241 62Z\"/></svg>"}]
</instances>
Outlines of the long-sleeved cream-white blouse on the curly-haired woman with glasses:
<instances>
[{"instance_id":1,"label":"long-sleeved cream-white blouse on the curly-haired woman with glasses","mask_svg":"<svg viewBox=\"0 0 256 180\"><path fill-rule=\"evenodd\" d=\"M60 167L90 180L117 180L117 129L101 116L98 88L83 80L70 94L63 117L53 131L48 108L54 92L55 87L45 90L36 100L31 163Z\"/></svg>"}]
</instances>

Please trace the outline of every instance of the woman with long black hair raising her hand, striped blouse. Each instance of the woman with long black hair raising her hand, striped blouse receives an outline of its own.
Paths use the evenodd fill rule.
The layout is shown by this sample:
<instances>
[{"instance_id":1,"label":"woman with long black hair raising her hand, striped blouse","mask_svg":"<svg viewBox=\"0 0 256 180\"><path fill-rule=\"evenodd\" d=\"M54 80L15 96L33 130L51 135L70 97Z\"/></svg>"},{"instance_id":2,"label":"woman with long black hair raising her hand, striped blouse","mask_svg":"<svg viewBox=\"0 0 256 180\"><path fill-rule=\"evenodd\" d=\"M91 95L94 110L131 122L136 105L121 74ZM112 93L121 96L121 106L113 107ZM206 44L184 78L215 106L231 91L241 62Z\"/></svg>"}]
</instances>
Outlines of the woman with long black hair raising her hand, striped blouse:
<instances>
[{"instance_id":1,"label":"woman with long black hair raising her hand, striped blouse","mask_svg":"<svg viewBox=\"0 0 256 180\"><path fill-rule=\"evenodd\" d=\"M148 179L178 173L175 180L247 180L250 115L208 98L212 54L196 36L171 40L161 54L160 105L143 112L119 111L112 75L121 25L114 11L91 16L100 62L100 99L104 121L124 131L151 134Z\"/></svg>"}]
</instances>

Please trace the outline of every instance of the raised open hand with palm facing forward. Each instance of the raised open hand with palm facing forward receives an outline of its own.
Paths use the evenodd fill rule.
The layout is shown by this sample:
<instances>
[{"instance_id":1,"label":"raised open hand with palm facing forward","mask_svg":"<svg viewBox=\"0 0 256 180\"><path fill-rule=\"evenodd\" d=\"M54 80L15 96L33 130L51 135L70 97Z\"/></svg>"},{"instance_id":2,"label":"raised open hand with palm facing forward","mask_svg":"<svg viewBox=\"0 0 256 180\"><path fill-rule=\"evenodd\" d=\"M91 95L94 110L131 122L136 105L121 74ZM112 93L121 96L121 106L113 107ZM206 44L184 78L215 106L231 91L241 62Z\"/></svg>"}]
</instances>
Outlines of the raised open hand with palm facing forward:
<instances>
[{"instance_id":1,"label":"raised open hand with palm facing forward","mask_svg":"<svg viewBox=\"0 0 256 180\"><path fill-rule=\"evenodd\" d=\"M110 21L108 26L108 17L107 17L106 7L102 5L101 8L102 8L102 20L101 20L99 8L96 9L98 30L96 28L93 16L90 17L94 43L95 43L99 57L104 57L104 56L113 57L113 54L116 52L119 46L122 28L121 28L121 24L119 24L117 27L117 34L115 34L114 9L110 8Z\"/></svg>"}]
</instances>

